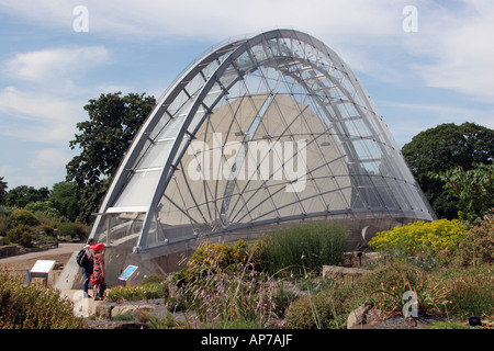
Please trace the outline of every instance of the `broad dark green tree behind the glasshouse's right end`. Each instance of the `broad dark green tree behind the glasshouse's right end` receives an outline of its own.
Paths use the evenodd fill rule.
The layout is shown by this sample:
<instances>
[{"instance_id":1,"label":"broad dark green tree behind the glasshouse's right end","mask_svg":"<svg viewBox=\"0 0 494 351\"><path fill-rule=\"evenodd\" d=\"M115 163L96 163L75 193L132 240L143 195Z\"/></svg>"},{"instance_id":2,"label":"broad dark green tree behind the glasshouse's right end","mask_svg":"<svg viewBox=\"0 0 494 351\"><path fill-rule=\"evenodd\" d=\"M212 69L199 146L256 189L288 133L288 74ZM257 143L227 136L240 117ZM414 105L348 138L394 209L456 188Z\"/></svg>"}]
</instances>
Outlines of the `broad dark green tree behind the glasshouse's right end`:
<instances>
[{"instance_id":1,"label":"broad dark green tree behind the glasshouse's right end","mask_svg":"<svg viewBox=\"0 0 494 351\"><path fill-rule=\"evenodd\" d=\"M444 189L445 181L429 173L446 172L454 167L468 171L474 163L491 165L494 159L494 131L474 123L441 124L416 135L406 144L405 157L418 184L439 218L458 216L458 203Z\"/></svg>"}]
</instances>

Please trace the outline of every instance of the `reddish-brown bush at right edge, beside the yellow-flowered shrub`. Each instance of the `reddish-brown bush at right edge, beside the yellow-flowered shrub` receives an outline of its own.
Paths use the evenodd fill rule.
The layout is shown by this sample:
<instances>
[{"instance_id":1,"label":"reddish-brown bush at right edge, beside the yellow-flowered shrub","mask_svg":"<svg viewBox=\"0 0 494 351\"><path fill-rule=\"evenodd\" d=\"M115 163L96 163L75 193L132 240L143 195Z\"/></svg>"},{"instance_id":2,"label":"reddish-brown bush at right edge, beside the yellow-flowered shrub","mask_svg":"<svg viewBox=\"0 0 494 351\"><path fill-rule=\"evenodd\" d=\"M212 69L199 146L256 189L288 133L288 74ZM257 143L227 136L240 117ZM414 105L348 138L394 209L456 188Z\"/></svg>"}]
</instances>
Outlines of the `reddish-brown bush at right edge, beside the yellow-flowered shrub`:
<instances>
[{"instance_id":1,"label":"reddish-brown bush at right edge, beside the yellow-flowered shrub","mask_svg":"<svg viewBox=\"0 0 494 351\"><path fill-rule=\"evenodd\" d=\"M480 265L494 262L494 212L484 216L469 230L460 242L458 260L461 265Z\"/></svg>"}]
</instances>

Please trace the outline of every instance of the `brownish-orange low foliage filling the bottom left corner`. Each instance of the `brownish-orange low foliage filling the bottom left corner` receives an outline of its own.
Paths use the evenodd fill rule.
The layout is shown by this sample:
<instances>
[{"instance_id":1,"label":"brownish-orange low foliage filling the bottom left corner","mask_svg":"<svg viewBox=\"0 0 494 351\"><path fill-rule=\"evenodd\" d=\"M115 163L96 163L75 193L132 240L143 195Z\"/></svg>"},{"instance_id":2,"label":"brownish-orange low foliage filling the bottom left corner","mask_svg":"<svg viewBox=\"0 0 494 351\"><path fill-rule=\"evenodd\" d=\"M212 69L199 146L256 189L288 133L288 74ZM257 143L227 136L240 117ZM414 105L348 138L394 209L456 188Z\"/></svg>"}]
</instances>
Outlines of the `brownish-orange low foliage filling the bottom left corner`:
<instances>
[{"instance_id":1,"label":"brownish-orange low foliage filling the bottom left corner","mask_svg":"<svg viewBox=\"0 0 494 351\"><path fill-rule=\"evenodd\" d=\"M74 305L42 284L22 284L23 278L0 271L0 329L85 329Z\"/></svg>"}]
</instances>

